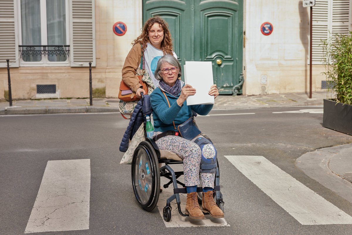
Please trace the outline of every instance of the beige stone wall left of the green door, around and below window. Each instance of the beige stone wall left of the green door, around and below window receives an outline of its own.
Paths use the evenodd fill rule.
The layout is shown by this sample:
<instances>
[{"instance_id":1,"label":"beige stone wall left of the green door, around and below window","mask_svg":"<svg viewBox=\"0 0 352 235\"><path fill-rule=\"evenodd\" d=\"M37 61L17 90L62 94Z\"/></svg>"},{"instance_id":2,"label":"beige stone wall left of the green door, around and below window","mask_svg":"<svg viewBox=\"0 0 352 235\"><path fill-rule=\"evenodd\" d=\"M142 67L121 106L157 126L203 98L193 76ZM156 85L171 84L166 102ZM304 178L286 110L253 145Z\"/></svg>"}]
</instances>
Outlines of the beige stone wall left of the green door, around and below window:
<instances>
[{"instance_id":1,"label":"beige stone wall left of the green door, around and below window","mask_svg":"<svg viewBox=\"0 0 352 235\"><path fill-rule=\"evenodd\" d=\"M117 36L113 25L122 21L127 32ZM121 69L131 42L142 28L142 1L95 0L96 67L92 68L92 87L106 87L106 97L117 97ZM57 93L47 98L89 97L89 67L69 66L11 68L13 99L42 98L36 86L56 84ZM0 68L0 99L7 90L7 69Z\"/></svg>"}]
</instances>

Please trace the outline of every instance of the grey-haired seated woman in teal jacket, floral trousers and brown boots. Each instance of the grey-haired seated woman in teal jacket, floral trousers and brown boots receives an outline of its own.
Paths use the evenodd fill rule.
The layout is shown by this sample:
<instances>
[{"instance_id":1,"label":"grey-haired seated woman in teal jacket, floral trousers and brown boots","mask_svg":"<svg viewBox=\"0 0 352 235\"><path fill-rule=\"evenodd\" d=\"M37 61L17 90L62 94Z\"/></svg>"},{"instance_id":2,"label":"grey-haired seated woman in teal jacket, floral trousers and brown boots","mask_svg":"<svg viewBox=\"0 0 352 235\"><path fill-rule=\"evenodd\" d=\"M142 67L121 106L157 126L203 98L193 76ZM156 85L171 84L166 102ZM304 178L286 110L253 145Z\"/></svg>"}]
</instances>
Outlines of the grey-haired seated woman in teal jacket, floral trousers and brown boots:
<instances>
[{"instance_id":1,"label":"grey-haired seated woman in teal jacket, floral trousers and brown boots","mask_svg":"<svg viewBox=\"0 0 352 235\"><path fill-rule=\"evenodd\" d=\"M181 65L171 55L164 55L158 61L154 76L159 80L159 88L150 95L153 110L155 134L175 130L178 125L192 117L192 110L200 115L207 115L213 108L212 104L187 106L186 99L196 93L196 89L182 82ZM216 98L219 95L216 85L212 85L209 95ZM167 98L166 98L167 97ZM169 103L169 104L168 104ZM170 107L169 107L170 106ZM177 133L176 133L177 134ZM201 138L199 135L193 140L187 140L176 135L167 135L156 140L161 150L169 150L183 159L184 183L187 190L186 213L193 219L205 218L198 204L197 184L201 174L203 197L202 209L212 217L222 218L224 213L216 205L213 198L215 171L200 169L202 154L206 158L214 157L216 150L211 143L203 146L202 150L194 141ZM208 156L208 157L207 157Z\"/></svg>"}]
</instances>

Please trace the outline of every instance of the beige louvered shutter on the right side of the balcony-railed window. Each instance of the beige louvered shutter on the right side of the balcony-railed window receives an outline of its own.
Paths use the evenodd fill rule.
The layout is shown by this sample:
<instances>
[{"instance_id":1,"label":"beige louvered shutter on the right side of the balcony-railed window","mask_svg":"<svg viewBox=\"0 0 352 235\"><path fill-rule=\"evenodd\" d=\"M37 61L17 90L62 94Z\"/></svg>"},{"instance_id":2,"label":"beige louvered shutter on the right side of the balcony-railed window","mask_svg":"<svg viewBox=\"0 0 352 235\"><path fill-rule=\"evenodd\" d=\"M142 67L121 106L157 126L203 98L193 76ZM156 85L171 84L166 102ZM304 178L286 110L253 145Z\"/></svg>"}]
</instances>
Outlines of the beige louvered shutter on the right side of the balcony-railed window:
<instances>
[{"instance_id":1,"label":"beige louvered shutter on the right side of the balcony-railed window","mask_svg":"<svg viewBox=\"0 0 352 235\"><path fill-rule=\"evenodd\" d=\"M70 0L71 67L95 66L95 2Z\"/></svg>"}]
</instances>

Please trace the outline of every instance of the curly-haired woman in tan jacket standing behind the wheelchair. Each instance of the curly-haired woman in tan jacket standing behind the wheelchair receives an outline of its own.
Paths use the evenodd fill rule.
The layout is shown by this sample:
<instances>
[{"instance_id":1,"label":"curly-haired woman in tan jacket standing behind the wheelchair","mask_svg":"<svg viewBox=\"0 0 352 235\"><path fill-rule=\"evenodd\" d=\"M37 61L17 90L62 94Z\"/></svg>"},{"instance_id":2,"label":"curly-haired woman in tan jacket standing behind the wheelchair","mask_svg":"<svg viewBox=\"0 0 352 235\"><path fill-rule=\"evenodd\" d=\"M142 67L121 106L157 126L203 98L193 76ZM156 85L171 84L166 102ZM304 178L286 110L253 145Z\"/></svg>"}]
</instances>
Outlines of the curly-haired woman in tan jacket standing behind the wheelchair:
<instances>
[{"instance_id":1,"label":"curly-haired woman in tan jacket standing behind the wheelchair","mask_svg":"<svg viewBox=\"0 0 352 235\"><path fill-rule=\"evenodd\" d=\"M136 93L138 98L140 98L141 92L146 94L146 91L142 88L142 84L140 84L138 76L136 75L136 73L142 72L139 68L142 67L143 64L143 71L145 71L146 74L144 74L142 80L147 84L148 94L150 94L153 89L159 86L159 81L154 78L156 64L159 58L166 54L177 57L175 52L172 51L172 39L169 26L165 20L159 16L149 18L143 26L141 35L134 40L133 47L130 52L128 52L124 67L122 68L122 80ZM136 103L134 103L134 105L132 104L133 102L128 103L130 104L120 102L119 108L121 113L133 112ZM143 133L143 127L141 126L136 134L134 134L131 142L129 144L127 143L128 149L122 157L120 164L131 163L133 151L142 141Z\"/></svg>"}]
</instances>

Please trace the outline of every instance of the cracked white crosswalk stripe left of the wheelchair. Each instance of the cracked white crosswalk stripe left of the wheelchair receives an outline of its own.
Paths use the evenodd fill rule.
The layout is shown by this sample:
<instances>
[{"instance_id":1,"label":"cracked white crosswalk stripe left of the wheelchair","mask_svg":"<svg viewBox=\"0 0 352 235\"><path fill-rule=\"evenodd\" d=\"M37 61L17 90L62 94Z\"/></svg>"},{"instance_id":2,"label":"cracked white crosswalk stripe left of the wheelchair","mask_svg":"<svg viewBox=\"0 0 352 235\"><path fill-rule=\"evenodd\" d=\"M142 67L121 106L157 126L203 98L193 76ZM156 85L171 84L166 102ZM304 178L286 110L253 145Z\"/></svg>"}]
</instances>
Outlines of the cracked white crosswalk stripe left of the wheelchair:
<instances>
[{"instance_id":1,"label":"cracked white crosswalk stripe left of the wheelchair","mask_svg":"<svg viewBox=\"0 0 352 235\"><path fill-rule=\"evenodd\" d=\"M89 229L90 160L48 161L25 233Z\"/></svg>"}]
</instances>

